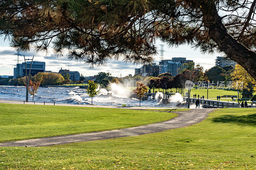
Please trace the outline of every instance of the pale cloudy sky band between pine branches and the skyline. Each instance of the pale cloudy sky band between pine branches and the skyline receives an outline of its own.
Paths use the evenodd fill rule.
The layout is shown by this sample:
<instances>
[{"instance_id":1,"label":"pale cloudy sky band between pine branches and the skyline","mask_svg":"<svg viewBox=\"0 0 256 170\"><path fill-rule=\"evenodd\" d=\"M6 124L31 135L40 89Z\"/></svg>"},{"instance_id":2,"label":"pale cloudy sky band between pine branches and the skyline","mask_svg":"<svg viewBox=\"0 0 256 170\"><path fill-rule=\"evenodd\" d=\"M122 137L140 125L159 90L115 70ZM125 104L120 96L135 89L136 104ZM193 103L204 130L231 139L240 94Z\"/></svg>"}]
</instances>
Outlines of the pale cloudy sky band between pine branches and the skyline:
<instances>
[{"instance_id":1,"label":"pale cloudy sky band between pine branches and the skyline","mask_svg":"<svg viewBox=\"0 0 256 170\"><path fill-rule=\"evenodd\" d=\"M164 44L157 42L157 44ZM159 47L160 49L160 47ZM172 59L172 57L186 57L188 60L194 60L196 64L200 64L204 69L211 68L215 65L216 56L221 56L219 53L213 55L201 54L199 51L194 51L190 46L179 46L178 48L169 48L164 46L164 59ZM0 75L13 75L13 67L16 65L15 49L9 47L9 42L0 38ZM43 53L28 52L25 54L27 57L32 57L35 54L34 60L44 61L46 63L45 69L53 72L58 72L62 67L63 69L69 69L70 71L79 71L84 76L96 75L98 72L110 72L113 76L122 76L128 74L134 74L134 68L139 68L141 65L133 65L125 63L123 61L109 60L106 66L90 68L90 66L83 62L70 61L66 56L56 57L50 55L48 57ZM160 53L159 53L160 54ZM20 58L22 60L23 57ZM20 63L23 61L20 61ZM155 62L158 64L159 55L155 56Z\"/></svg>"}]
</instances>

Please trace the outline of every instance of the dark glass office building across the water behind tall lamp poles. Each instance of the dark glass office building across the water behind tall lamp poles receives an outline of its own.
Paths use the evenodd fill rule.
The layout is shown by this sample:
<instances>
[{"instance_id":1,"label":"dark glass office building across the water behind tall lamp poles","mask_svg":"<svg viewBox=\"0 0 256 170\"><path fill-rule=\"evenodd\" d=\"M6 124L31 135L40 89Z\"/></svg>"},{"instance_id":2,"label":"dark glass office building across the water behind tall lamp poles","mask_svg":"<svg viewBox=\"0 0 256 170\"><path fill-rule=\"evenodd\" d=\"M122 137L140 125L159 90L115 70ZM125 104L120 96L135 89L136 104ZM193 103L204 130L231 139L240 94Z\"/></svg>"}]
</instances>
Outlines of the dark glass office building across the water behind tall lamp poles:
<instances>
[{"instance_id":1,"label":"dark glass office building across the water behind tall lamp poles","mask_svg":"<svg viewBox=\"0 0 256 170\"><path fill-rule=\"evenodd\" d=\"M27 61L26 64L27 64L27 75L28 75L31 61ZM41 61L32 62L30 75L34 76L37 73L44 72L44 71L45 71L45 62L41 62ZM26 76L25 62L23 62L22 64L16 64L16 67L14 67L13 69L13 78L17 78L19 75L21 77Z\"/></svg>"}]
</instances>

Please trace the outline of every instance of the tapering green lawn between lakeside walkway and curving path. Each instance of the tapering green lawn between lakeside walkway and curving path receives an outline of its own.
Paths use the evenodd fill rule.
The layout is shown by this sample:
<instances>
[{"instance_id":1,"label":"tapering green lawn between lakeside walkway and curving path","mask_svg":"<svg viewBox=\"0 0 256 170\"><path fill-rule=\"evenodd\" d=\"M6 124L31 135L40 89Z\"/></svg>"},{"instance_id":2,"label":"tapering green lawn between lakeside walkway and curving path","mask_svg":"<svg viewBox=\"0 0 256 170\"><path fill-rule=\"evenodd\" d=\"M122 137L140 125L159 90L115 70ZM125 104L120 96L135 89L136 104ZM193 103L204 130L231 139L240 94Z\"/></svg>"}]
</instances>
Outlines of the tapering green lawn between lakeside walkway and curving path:
<instances>
[{"instance_id":1,"label":"tapering green lawn between lakeside walkway and curving path","mask_svg":"<svg viewBox=\"0 0 256 170\"><path fill-rule=\"evenodd\" d=\"M161 122L174 113L0 103L0 142L105 131Z\"/></svg>"}]
</instances>

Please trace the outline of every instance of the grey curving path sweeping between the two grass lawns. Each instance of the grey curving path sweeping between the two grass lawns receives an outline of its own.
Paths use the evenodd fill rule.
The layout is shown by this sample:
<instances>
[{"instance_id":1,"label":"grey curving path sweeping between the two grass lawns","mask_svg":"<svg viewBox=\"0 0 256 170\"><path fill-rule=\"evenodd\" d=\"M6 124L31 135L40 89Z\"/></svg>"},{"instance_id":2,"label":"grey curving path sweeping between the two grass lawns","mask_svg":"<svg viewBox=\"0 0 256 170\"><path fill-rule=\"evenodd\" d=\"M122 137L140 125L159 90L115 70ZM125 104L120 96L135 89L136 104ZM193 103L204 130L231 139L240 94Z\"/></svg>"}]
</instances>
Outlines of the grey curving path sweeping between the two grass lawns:
<instances>
[{"instance_id":1,"label":"grey curving path sweeping between the two grass lawns","mask_svg":"<svg viewBox=\"0 0 256 170\"><path fill-rule=\"evenodd\" d=\"M75 135L63 135L54 136L46 138L37 138L29 140L21 140L14 142L4 142L0 143L0 146L47 146L47 145L58 145L58 144L68 144L74 142L84 142L92 140L110 139L110 138L120 138L128 136L138 136L148 133L156 133L169 129L181 128L196 124L204 120L208 113L211 113L215 109L191 109L187 111L176 112L177 117L170 119L168 121L142 125L132 128L124 128L112 131L99 131L91 133L81 133Z\"/></svg>"}]
</instances>

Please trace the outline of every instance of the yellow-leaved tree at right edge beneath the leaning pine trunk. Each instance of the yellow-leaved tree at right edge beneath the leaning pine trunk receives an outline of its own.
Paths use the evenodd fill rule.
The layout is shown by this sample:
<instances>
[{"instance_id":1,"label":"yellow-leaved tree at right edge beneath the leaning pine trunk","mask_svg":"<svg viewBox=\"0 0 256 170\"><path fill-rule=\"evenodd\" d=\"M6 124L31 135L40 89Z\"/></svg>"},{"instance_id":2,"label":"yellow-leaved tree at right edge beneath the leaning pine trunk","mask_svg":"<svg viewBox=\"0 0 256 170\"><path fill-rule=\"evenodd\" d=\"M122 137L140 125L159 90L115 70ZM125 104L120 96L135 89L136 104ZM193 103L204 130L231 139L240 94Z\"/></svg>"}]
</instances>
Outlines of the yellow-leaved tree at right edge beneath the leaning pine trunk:
<instances>
[{"instance_id":1,"label":"yellow-leaved tree at right edge beneath the leaning pine trunk","mask_svg":"<svg viewBox=\"0 0 256 170\"><path fill-rule=\"evenodd\" d=\"M242 90L243 98L251 98L256 91L255 79L240 65L236 65L234 72L231 73L231 80L234 81L234 89Z\"/></svg>"}]
</instances>

